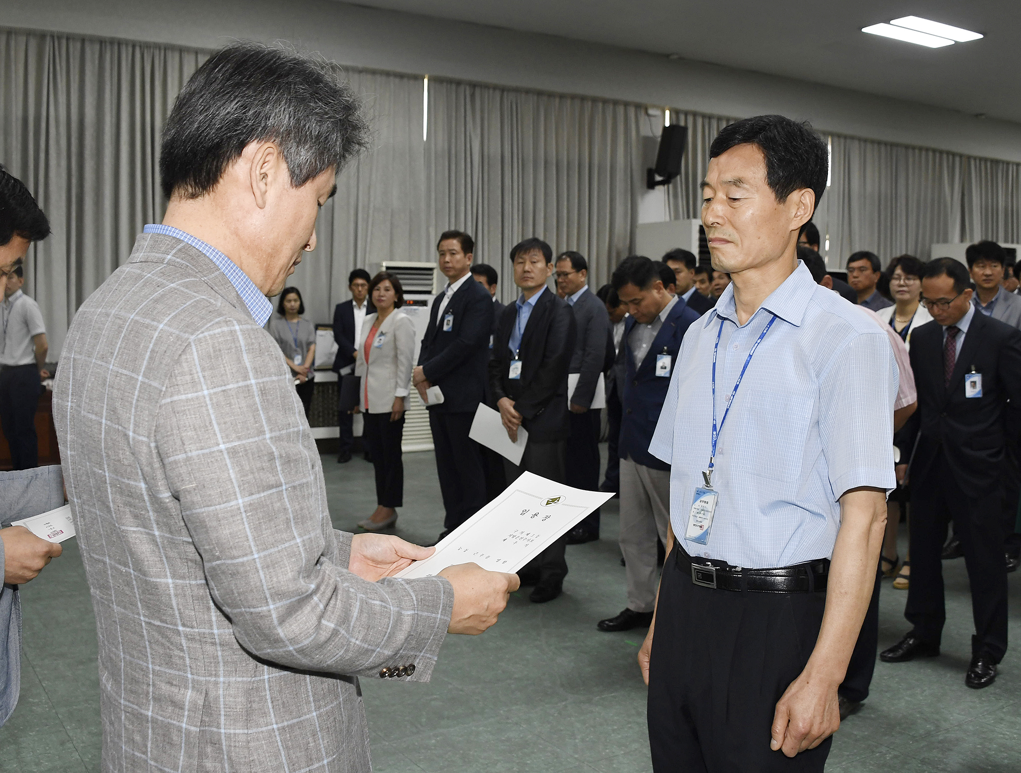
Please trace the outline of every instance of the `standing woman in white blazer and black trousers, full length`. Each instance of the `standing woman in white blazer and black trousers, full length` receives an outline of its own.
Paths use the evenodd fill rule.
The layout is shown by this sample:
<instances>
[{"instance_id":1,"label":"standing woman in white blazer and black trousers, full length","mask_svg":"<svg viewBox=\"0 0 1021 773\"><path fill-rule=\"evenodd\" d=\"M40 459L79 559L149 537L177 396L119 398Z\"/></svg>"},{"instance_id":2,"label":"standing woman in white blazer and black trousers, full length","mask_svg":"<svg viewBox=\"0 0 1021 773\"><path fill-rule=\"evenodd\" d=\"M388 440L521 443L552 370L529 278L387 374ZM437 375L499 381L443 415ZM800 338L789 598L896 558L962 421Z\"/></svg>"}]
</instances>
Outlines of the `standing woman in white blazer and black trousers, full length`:
<instances>
[{"instance_id":1,"label":"standing woman in white blazer and black trousers, full length","mask_svg":"<svg viewBox=\"0 0 1021 773\"><path fill-rule=\"evenodd\" d=\"M403 503L404 402L411 384L415 324L398 309L404 303L400 280L380 272L369 285L376 313L366 317L356 342L354 373L361 377L362 441L376 468L376 512L358 526L367 531L388 529L397 522Z\"/></svg>"}]
</instances>

